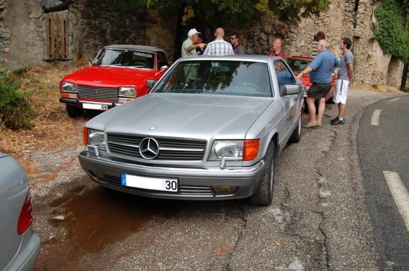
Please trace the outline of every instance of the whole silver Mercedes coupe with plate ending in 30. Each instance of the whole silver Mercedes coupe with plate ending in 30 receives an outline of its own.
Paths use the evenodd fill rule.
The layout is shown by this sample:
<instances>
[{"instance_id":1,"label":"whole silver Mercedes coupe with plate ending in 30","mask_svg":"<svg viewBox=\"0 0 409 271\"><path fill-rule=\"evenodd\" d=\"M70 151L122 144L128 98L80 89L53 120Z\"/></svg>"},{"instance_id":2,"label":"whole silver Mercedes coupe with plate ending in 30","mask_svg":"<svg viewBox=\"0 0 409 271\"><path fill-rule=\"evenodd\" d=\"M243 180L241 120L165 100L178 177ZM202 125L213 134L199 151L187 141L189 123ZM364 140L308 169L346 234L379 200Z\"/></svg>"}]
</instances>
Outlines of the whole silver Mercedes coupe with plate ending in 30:
<instances>
[{"instance_id":1,"label":"whole silver Mercedes coupe with plate ending in 30","mask_svg":"<svg viewBox=\"0 0 409 271\"><path fill-rule=\"evenodd\" d=\"M92 180L147 197L271 203L274 161L300 140L304 105L283 59L185 57L148 85L85 124L79 162Z\"/></svg>"}]
</instances>

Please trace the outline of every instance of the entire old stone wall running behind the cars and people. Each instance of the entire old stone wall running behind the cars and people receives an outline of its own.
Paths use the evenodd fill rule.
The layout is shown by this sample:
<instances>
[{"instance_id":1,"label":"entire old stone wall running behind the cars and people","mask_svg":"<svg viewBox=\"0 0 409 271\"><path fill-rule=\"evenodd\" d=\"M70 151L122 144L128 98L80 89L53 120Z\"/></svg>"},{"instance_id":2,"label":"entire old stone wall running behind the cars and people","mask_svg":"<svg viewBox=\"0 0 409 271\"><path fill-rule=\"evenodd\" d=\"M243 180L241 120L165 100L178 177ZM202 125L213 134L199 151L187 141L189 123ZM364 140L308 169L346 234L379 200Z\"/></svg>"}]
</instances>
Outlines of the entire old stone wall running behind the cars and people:
<instances>
[{"instance_id":1,"label":"entire old stone wall running behind the cars and people","mask_svg":"<svg viewBox=\"0 0 409 271\"><path fill-rule=\"evenodd\" d=\"M141 44L163 48L173 60L177 14L163 19L156 10L125 6L123 0L43 0L48 11L68 13L68 58L93 58L109 44ZM319 17L303 18L298 25L287 25L264 17L245 31L223 26L226 34L239 32L248 54L268 54L276 37L284 40L287 55L311 56L312 40L324 32L330 50L338 57L338 42L353 40L355 82L398 86L403 63L384 54L373 39L374 8L379 0L333 0ZM44 5L43 3L43 5ZM56 4L53 6L53 4ZM356 22L356 23L355 23ZM184 39L184 38L183 38ZM47 58L46 20L41 0L0 0L0 63L12 69L44 64Z\"/></svg>"}]
</instances>

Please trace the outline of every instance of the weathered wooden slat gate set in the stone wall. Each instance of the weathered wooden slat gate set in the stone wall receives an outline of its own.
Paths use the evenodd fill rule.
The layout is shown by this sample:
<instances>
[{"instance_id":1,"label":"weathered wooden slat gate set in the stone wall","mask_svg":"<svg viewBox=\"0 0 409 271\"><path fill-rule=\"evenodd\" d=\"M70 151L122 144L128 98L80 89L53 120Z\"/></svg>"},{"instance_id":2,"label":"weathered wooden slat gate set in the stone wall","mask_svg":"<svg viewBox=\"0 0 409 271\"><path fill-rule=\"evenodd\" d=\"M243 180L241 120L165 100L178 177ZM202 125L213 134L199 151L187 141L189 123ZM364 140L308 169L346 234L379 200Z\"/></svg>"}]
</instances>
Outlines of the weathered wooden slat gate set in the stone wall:
<instances>
[{"instance_id":1,"label":"weathered wooden slat gate set in the stone wall","mask_svg":"<svg viewBox=\"0 0 409 271\"><path fill-rule=\"evenodd\" d=\"M47 56L49 59L67 59L67 12L50 12L47 18Z\"/></svg>"}]
</instances>

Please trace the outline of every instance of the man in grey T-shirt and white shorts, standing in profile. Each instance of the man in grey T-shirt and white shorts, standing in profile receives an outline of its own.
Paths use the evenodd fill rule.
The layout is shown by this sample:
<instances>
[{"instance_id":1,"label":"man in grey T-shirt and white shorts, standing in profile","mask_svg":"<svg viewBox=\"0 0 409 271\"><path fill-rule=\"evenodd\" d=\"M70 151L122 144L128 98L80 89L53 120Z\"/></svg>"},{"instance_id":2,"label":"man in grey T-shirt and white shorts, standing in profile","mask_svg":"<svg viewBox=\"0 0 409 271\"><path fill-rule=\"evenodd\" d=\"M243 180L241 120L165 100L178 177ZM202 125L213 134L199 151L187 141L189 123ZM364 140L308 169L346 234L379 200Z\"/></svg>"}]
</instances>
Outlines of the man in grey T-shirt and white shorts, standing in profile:
<instances>
[{"instance_id":1,"label":"man in grey T-shirt and white shorts, standing in profile","mask_svg":"<svg viewBox=\"0 0 409 271\"><path fill-rule=\"evenodd\" d=\"M343 38L339 41L339 49L342 50L341 65L338 70L338 79L335 85L335 93L333 101L338 104L338 117L331 120L332 125L345 124L343 116L347 103L348 86L352 82L354 75L354 56L349 50L352 46L352 41L349 38Z\"/></svg>"}]
</instances>

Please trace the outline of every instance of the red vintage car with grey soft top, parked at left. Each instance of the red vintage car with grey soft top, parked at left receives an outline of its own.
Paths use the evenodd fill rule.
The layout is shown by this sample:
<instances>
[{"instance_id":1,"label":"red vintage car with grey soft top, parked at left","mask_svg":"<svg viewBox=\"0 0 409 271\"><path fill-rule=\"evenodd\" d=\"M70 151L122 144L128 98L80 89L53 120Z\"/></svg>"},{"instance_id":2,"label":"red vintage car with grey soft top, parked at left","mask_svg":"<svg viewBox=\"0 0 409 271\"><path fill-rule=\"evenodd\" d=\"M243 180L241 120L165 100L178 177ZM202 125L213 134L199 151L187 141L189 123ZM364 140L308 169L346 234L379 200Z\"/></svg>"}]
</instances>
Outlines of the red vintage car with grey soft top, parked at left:
<instances>
[{"instance_id":1,"label":"red vintage car with grey soft top, parked at left","mask_svg":"<svg viewBox=\"0 0 409 271\"><path fill-rule=\"evenodd\" d=\"M72 118L84 109L108 110L147 94L146 80L158 80L168 66L165 52L156 47L106 46L90 67L61 79L60 102Z\"/></svg>"}]
</instances>

